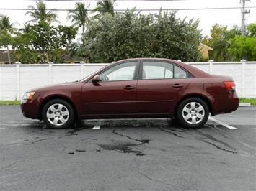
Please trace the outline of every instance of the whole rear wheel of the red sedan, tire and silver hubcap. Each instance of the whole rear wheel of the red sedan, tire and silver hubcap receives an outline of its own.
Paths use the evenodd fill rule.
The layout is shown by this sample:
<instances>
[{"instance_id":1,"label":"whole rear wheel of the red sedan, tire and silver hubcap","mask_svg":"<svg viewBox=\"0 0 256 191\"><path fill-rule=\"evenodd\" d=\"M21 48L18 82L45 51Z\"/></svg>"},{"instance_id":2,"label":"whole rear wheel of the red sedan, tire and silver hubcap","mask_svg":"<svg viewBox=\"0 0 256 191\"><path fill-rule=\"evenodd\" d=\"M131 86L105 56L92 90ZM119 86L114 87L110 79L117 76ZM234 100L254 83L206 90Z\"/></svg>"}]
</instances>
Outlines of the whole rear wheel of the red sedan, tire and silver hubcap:
<instances>
[{"instance_id":1,"label":"whole rear wheel of the red sedan, tire and silver hubcap","mask_svg":"<svg viewBox=\"0 0 256 191\"><path fill-rule=\"evenodd\" d=\"M200 98L187 98L177 109L177 118L183 126L195 128L206 124L209 108Z\"/></svg>"}]
</instances>

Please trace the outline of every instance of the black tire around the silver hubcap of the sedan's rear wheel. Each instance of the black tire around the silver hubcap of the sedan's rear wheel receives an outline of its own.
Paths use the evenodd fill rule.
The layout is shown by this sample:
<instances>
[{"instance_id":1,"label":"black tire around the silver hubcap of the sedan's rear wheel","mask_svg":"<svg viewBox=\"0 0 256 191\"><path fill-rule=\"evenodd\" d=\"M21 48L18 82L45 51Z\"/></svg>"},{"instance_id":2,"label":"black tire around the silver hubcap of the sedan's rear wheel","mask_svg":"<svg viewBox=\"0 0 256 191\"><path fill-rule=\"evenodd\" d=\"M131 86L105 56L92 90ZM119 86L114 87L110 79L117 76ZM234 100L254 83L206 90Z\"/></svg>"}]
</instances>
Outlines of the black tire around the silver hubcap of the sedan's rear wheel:
<instances>
[{"instance_id":1,"label":"black tire around the silver hubcap of the sedan's rear wheel","mask_svg":"<svg viewBox=\"0 0 256 191\"><path fill-rule=\"evenodd\" d=\"M204 116L203 116L203 118L201 120L200 120L200 118L195 116L196 120L200 121L200 122L197 122L197 124L190 124L190 123L188 123L187 121L190 120L190 119L188 119L186 121L185 118L182 115L183 108L185 106L187 106L187 104L193 103L193 102L194 103L199 103L201 106L203 106L203 109L204 109ZM199 104L196 104L196 105L199 106ZM186 111L185 111L185 114L186 114ZM184 101L182 101L182 103L180 103L180 105L177 108L177 119L179 120L179 122L180 122L180 124L182 126L185 126L187 128L196 128L196 127L203 126L204 124L206 124L206 121L208 120L208 117L209 117L208 105L206 104L205 101L201 100L200 98L187 98ZM191 120L192 120L192 118L191 118Z\"/></svg>"}]
</instances>

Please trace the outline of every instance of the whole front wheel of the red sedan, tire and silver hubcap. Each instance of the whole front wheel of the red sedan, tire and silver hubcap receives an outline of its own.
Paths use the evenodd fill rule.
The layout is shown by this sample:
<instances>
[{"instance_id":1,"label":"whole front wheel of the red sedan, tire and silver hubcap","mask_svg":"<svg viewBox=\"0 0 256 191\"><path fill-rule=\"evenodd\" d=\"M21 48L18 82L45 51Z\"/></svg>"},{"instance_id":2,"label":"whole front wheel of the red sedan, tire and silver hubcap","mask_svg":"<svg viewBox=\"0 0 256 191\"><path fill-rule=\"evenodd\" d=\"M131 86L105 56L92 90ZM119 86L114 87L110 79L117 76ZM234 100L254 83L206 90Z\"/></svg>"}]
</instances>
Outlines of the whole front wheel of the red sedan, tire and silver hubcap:
<instances>
[{"instance_id":1,"label":"whole front wheel of the red sedan, tire and silver hubcap","mask_svg":"<svg viewBox=\"0 0 256 191\"><path fill-rule=\"evenodd\" d=\"M53 129L65 129L74 123L74 109L61 99L45 104L42 111L43 121Z\"/></svg>"}]
</instances>

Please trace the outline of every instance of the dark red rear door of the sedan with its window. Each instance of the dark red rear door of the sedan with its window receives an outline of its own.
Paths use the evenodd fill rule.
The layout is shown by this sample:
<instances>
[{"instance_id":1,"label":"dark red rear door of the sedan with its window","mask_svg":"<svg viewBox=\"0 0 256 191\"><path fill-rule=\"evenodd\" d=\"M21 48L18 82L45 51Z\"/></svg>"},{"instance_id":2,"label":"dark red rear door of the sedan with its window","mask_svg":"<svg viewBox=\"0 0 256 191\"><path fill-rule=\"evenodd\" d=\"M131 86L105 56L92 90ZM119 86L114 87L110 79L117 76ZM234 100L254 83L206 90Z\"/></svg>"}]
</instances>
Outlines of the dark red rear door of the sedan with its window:
<instances>
[{"instance_id":1,"label":"dark red rear door of the sedan with its window","mask_svg":"<svg viewBox=\"0 0 256 191\"><path fill-rule=\"evenodd\" d=\"M172 114L189 83L189 75L181 67L170 62L143 60L137 83L137 112Z\"/></svg>"}]
</instances>

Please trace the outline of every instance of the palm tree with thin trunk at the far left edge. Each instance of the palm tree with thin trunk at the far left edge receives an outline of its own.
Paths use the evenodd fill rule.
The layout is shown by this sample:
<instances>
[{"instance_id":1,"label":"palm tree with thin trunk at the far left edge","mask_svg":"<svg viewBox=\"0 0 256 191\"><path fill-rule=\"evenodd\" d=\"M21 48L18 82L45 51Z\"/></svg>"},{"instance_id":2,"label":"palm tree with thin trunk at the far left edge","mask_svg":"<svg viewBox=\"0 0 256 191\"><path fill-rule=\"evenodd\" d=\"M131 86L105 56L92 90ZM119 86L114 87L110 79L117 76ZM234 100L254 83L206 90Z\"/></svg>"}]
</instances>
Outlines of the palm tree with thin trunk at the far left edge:
<instances>
[{"instance_id":1,"label":"palm tree with thin trunk at the far left edge","mask_svg":"<svg viewBox=\"0 0 256 191\"><path fill-rule=\"evenodd\" d=\"M9 45L12 41L12 32L14 32L13 24L11 24L9 17L6 15L0 16L0 35L2 39L2 43L4 47L7 48L7 54L8 54L8 61L9 64L11 64L11 57L10 57L10 51L9 51Z\"/></svg>"}]
</instances>

